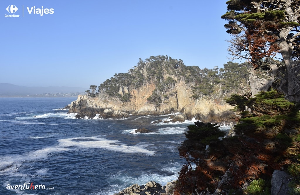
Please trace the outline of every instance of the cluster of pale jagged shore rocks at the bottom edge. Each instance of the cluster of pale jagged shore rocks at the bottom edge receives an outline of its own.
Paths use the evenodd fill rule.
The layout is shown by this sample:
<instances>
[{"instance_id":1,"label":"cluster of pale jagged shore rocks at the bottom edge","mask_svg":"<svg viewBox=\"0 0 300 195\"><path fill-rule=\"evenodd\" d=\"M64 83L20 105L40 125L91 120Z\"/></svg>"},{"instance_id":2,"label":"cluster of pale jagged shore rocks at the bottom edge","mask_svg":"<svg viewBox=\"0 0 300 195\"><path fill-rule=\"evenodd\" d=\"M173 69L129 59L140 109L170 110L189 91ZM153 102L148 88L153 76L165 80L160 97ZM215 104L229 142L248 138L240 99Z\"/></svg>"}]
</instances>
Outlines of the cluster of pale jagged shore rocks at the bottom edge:
<instances>
[{"instance_id":1,"label":"cluster of pale jagged shore rocks at the bottom edge","mask_svg":"<svg viewBox=\"0 0 300 195\"><path fill-rule=\"evenodd\" d=\"M114 195L173 195L175 181L168 182L162 186L155 181L147 182L145 185L133 184Z\"/></svg>"}]
</instances>

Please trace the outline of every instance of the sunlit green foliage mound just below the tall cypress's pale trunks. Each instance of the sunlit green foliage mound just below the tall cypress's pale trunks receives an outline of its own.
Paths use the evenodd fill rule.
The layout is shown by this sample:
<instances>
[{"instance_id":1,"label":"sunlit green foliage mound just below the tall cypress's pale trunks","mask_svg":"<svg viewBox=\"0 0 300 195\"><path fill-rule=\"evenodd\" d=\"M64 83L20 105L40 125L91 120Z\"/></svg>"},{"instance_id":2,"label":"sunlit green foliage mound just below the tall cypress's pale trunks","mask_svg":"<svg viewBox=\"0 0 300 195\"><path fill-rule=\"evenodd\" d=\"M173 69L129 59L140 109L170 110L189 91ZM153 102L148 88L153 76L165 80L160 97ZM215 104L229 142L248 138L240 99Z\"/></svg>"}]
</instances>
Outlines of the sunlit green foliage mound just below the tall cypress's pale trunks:
<instances>
[{"instance_id":1,"label":"sunlit green foliage mound just below the tall cypress's pale trunks","mask_svg":"<svg viewBox=\"0 0 300 195\"><path fill-rule=\"evenodd\" d=\"M240 102L240 99L238 96L232 96L231 102ZM274 137L280 131L288 131L300 124L299 111L295 104L287 101L277 90L261 92L244 104L250 108L251 113L235 125L237 133L263 132L267 136ZM280 134L277 137L288 146L291 140L283 138Z\"/></svg>"}]
</instances>

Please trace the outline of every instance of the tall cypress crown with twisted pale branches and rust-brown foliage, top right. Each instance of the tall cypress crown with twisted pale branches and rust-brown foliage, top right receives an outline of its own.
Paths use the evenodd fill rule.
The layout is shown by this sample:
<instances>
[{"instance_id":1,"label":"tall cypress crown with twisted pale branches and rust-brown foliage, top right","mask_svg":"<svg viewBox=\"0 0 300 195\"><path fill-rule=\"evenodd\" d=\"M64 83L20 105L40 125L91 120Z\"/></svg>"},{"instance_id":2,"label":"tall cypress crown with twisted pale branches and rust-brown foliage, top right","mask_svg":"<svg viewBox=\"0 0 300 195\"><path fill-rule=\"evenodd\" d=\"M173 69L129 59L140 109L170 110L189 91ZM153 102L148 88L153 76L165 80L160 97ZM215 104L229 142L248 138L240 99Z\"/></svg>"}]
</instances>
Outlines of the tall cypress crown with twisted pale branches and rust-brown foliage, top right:
<instances>
[{"instance_id":1,"label":"tall cypress crown with twisted pale branches and rust-brown foliage, top right","mask_svg":"<svg viewBox=\"0 0 300 195\"><path fill-rule=\"evenodd\" d=\"M259 70L267 64L269 68L264 72L255 71L256 82L266 72L276 75L270 77L275 81L270 80L272 84L277 82L273 86L280 88L290 101L300 102L298 79L291 79L298 78L299 74L293 70L292 65L300 59L300 35L296 33L299 32L297 20L300 17L298 1L230 0L226 4L228 11L221 18L227 20L224 25L226 32L233 35L228 41L232 59L250 61L253 70ZM289 42L293 46L287 49L289 52L283 54L282 51ZM281 55L281 62L267 60L277 55Z\"/></svg>"}]
</instances>

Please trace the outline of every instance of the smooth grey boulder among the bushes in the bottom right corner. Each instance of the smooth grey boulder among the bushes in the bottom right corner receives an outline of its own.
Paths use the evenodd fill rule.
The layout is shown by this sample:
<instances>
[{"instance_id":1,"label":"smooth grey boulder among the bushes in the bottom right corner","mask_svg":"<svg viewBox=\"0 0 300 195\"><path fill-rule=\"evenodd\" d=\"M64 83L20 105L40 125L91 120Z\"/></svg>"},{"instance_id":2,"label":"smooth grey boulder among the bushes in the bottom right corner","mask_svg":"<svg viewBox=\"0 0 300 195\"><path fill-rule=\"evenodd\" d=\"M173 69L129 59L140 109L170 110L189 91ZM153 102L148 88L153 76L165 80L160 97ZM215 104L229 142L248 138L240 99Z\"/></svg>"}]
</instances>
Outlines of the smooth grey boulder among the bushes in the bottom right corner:
<instances>
[{"instance_id":1,"label":"smooth grey boulder among the bushes in the bottom right corner","mask_svg":"<svg viewBox=\"0 0 300 195\"><path fill-rule=\"evenodd\" d=\"M284 171L274 170L271 179L271 195L288 195L290 178L291 176Z\"/></svg>"}]
</instances>

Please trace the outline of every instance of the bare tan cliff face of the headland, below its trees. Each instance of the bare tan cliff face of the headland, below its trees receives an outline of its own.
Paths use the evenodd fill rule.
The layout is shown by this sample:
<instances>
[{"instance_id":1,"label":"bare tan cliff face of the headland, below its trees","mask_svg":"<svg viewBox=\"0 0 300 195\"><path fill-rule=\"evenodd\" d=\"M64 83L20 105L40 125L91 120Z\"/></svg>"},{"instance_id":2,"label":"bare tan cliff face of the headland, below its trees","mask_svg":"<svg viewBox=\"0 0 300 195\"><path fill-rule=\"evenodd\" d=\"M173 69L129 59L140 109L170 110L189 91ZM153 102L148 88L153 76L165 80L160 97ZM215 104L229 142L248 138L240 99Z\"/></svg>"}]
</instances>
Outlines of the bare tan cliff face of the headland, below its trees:
<instances>
[{"instance_id":1,"label":"bare tan cliff face of the headland, below its trees","mask_svg":"<svg viewBox=\"0 0 300 195\"><path fill-rule=\"evenodd\" d=\"M125 90L126 89L126 90ZM89 98L85 95L79 95L76 101L73 101L70 106L69 113L78 113L82 116L94 117L95 114L107 114L108 110L112 113L110 116L129 116L132 115L161 115L182 112L185 119L192 118L200 119L205 116L222 115L228 112L233 107L218 103L214 100L193 100L192 90L185 85L184 82L176 83L171 93L162 95L163 103L158 107L147 101L155 90L153 83L141 86L137 89L129 89L127 87L120 87L119 93L130 93L131 101L122 102L118 98L103 98L95 97ZM89 112L95 112L89 114ZM219 117L220 118L220 117ZM209 120L209 119L207 119ZM219 120L219 119L215 119Z\"/></svg>"}]
</instances>

